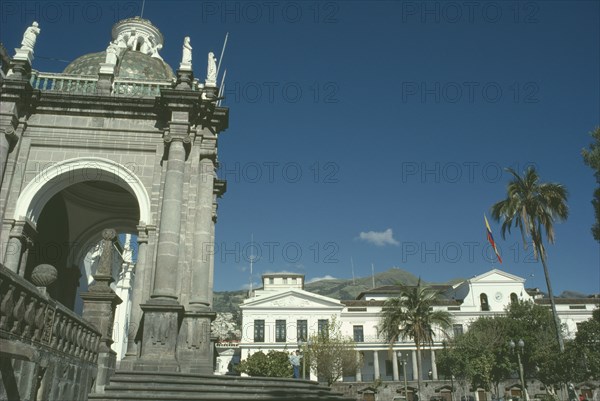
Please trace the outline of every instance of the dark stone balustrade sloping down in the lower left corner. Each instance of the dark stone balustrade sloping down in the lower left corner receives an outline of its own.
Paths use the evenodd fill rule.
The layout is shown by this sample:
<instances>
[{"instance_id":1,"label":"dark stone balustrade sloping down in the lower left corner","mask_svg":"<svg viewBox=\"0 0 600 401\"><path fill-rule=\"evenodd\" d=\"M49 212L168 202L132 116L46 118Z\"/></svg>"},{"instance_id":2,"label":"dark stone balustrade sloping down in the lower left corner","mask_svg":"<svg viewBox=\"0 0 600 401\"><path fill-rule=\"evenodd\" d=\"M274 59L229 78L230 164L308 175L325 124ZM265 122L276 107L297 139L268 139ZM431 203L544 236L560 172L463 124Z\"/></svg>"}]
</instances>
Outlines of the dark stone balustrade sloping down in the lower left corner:
<instances>
[{"instance_id":1,"label":"dark stone balustrade sloping down in the lower left corner","mask_svg":"<svg viewBox=\"0 0 600 401\"><path fill-rule=\"evenodd\" d=\"M12 381L1 399L86 400L98 371L100 332L0 265L0 357Z\"/></svg>"}]
</instances>

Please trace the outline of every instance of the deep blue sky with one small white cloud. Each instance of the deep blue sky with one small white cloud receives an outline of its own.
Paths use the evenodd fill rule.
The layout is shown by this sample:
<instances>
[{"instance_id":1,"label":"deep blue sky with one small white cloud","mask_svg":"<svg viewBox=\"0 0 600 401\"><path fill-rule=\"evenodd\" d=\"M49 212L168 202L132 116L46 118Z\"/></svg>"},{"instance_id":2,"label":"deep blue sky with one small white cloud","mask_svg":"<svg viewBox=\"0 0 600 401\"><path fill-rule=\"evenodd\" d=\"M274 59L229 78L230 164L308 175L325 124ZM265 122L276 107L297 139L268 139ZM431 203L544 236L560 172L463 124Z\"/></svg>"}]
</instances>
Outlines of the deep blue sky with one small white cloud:
<instances>
[{"instance_id":1,"label":"deep blue sky with one small white cloud","mask_svg":"<svg viewBox=\"0 0 600 401\"><path fill-rule=\"evenodd\" d=\"M17 47L36 19L34 68L59 72L103 50L141 1L2 2ZM196 76L229 32L220 136L215 289L260 273L307 279L400 267L427 281L492 267L545 289L520 235L483 214L505 196L504 167L534 165L569 190L569 219L548 246L555 292L600 292L590 233L596 186L581 149L600 123L597 1L146 1L173 67L183 37ZM251 238L255 246L251 246ZM260 256L260 257L258 257Z\"/></svg>"}]
</instances>

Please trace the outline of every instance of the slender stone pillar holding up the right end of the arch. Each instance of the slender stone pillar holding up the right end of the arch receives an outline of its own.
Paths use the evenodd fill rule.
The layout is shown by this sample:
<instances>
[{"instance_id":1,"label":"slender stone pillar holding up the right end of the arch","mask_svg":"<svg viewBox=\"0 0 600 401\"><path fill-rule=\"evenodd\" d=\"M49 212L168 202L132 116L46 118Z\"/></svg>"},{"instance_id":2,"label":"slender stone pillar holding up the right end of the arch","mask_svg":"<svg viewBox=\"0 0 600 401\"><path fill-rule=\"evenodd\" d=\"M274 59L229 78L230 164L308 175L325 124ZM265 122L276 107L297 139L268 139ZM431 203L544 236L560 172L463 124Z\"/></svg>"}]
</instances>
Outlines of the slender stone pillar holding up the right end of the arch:
<instances>
[{"instance_id":1,"label":"slender stone pillar holding up the right end of the arch","mask_svg":"<svg viewBox=\"0 0 600 401\"><path fill-rule=\"evenodd\" d=\"M142 320L142 310L140 300L144 297L144 284L149 272L148 266L148 231L146 226L138 226L138 258L135 264L135 280L131 290L131 309L129 311L129 324L127 325L127 351L125 358L121 361L120 368L125 370L133 369L133 362L138 357L138 343L141 334L139 324Z\"/></svg>"}]
</instances>

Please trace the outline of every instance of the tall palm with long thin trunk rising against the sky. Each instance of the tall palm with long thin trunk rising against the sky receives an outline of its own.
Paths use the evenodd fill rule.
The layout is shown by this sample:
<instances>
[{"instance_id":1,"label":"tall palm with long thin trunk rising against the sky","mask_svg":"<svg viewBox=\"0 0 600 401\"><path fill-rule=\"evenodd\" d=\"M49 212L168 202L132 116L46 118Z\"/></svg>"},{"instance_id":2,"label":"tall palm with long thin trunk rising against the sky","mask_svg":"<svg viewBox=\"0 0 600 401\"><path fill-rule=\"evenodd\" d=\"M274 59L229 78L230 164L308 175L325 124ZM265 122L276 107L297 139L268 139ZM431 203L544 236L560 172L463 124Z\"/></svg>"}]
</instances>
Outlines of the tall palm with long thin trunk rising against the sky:
<instances>
[{"instance_id":1,"label":"tall palm with long thin trunk rising against the sky","mask_svg":"<svg viewBox=\"0 0 600 401\"><path fill-rule=\"evenodd\" d=\"M506 232L510 233L513 226L521 231L525 248L527 238L531 238L534 255L536 259L539 257L544 266L544 276L556 325L556 338L560 351L564 352L565 346L546 265L546 249L542 233L546 233L548 242L554 243L554 222L566 220L569 215L566 203L567 190L560 184L539 182L540 178L533 167L529 167L522 177L513 169L509 168L507 171L512 174L513 179L507 185L506 199L492 206L492 217L496 221L502 220L502 238L506 238Z\"/></svg>"}]
</instances>

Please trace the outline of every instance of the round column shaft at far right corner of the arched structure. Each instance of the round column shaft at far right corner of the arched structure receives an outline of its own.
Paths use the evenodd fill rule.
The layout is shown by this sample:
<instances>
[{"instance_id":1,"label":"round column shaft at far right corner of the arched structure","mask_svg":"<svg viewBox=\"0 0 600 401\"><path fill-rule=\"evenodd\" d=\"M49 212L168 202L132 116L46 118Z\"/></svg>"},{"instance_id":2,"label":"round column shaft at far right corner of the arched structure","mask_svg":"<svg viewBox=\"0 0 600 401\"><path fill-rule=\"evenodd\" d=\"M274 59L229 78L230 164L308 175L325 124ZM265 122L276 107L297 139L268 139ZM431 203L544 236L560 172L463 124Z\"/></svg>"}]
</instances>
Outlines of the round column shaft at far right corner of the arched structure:
<instances>
[{"instance_id":1,"label":"round column shaft at far right corner of the arched structure","mask_svg":"<svg viewBox=\"0 0 600 401\"><path fill-rule=\"evenodd\" d=\"M207 310L210 305L210 260L214 256L212 241L212 211L215 177L216 150L200 152L198 195L196 197L196 221L194 230L194 253L192 258L192 282L190 306L196 310Z\"/></svg>"}]
</instances>

